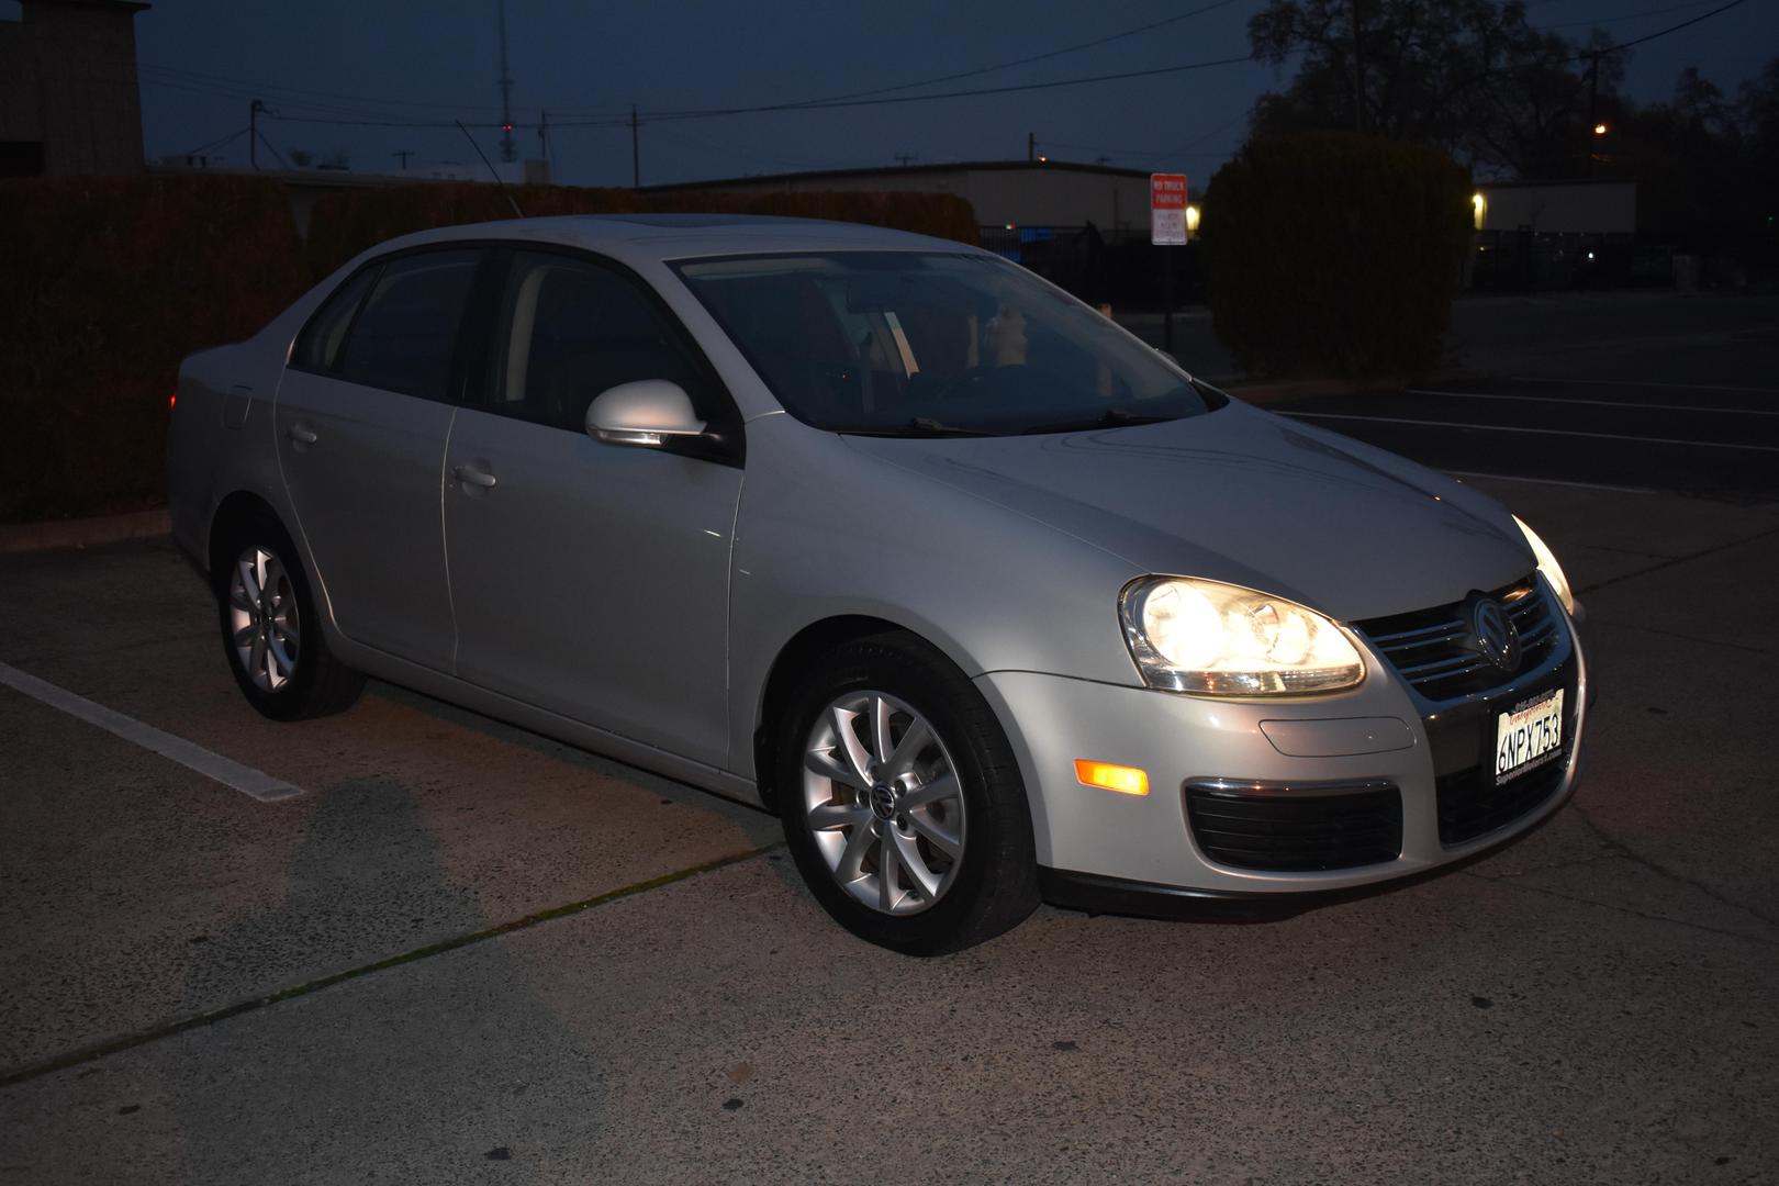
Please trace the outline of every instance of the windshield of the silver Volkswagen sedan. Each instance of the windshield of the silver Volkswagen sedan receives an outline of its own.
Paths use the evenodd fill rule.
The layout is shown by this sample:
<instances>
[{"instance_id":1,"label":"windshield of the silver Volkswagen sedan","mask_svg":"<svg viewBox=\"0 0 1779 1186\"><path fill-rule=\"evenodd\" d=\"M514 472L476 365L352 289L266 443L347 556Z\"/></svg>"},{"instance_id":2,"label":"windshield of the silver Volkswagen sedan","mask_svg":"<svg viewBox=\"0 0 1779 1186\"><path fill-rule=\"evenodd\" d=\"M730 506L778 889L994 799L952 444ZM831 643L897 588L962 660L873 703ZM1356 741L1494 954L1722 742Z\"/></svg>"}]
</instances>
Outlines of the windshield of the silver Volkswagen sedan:
<instances>
[{"instance_id":1,"label":"windshield of the silver Volkswagen sedan","mask_svg":"<svg viewBox=\"0 0 1779 1186\"><path fill-rule=\"evenodd\" d=\"M986 254L841 251L676 265L779 404L879 436L1010 436L1219 407L1108 318Z\"/></svg>"}]
</instances>

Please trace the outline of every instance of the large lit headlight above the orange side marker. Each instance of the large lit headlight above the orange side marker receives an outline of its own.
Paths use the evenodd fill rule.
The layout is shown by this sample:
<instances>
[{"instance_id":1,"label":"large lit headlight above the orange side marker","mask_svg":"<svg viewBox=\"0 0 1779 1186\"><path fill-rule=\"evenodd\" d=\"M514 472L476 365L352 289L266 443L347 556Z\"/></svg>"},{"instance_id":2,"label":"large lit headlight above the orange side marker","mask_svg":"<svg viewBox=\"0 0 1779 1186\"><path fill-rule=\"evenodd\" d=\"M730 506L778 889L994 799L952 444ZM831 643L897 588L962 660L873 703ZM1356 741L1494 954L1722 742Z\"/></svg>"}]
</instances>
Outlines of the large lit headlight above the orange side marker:
<instances>
[{"instance_id":1,"label":"large lit headlight above the orange side marker","mask_svg":"<svg viewBox=\"0 0 1779 1186\"><path fill-rule=\"evenodd\" d=\"M1364 679L1364 661L1340 626L1240 585L1144 576L1124 587L1119 617L1151 688L1290 695Z\"/></svg>"}]
</instances>

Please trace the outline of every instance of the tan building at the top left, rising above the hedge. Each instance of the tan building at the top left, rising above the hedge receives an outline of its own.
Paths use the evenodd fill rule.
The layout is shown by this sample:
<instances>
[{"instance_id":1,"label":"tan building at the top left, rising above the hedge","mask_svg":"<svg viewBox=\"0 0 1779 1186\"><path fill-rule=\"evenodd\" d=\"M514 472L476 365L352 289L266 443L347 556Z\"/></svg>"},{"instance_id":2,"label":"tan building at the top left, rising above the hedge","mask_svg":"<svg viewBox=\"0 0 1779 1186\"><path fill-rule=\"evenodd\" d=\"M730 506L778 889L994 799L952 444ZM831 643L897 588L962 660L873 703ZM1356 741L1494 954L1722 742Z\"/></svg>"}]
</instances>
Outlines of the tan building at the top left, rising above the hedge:
<instances>
[{"instance_id":1,"label":"tan building at the top left, rising above the hedge","mask_svg":"<svg viewBox=\"0 0 1779 1186\"><path fill-rule=\"evenodd\" d=\"M139 0L0 5L0 176L142 171ZM11 16L11 20L9 20Z\"/></svg>"}]
</instances>

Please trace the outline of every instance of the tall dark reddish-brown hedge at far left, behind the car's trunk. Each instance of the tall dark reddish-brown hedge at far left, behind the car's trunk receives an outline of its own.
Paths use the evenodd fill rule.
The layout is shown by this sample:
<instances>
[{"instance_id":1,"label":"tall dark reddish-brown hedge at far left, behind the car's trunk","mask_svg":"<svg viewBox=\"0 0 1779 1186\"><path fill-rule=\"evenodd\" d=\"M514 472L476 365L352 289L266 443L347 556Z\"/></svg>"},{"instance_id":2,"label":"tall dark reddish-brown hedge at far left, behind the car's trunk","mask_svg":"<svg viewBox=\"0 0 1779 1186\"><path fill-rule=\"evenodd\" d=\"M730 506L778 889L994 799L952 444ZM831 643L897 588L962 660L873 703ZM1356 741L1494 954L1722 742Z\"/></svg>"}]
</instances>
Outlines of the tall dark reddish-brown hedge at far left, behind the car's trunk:
<instances>
[{"instance_id":1,"label":"tall dark reddish-brown hedge at far left, behind the car's trunk","mask_svg":"<svg viewBox=\"0 0 1779 1186\"><path fill-rule=\"evenodd\" d=\"M274 181L0 183L0 517L158 503L180 359L306 284Z\"/></svg>"}]
</instances>

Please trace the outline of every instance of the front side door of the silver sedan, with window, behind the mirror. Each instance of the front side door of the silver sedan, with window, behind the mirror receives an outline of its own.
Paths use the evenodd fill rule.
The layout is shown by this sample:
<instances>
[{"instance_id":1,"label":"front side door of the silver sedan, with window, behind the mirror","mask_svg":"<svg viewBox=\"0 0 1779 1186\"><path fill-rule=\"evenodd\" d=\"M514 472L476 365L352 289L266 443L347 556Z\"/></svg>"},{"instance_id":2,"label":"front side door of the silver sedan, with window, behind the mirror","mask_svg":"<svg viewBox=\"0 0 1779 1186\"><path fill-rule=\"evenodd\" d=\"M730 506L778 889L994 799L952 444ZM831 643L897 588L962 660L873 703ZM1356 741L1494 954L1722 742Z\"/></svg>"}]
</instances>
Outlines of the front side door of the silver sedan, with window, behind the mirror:
<instances>
[{"instance_id":1,"label":"front side door of the silver sedan, with window, behind the mirror","mask_svg":"<svg viewBox=\"0 0 1779 1186\"><path fill-rule=\"evenodd\" d=\"M445 462L457 676L719 765L740 416L626 270L518 251L491 290L484 397L457 413ZM728 452L591 439L592 398L639 379L685 388Z\"/></svg>"}]
</instances>

